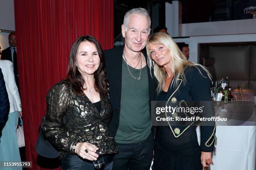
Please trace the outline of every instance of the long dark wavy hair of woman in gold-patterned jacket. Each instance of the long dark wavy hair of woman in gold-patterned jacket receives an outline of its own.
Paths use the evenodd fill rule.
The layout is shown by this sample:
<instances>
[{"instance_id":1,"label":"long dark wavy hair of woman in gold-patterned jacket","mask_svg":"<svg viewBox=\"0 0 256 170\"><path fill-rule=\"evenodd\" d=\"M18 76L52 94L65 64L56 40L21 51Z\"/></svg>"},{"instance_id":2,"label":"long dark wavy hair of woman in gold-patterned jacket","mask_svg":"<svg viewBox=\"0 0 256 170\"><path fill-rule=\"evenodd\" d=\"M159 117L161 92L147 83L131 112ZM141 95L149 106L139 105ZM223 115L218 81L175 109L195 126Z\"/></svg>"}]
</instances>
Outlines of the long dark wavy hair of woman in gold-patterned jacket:
<instances>
[{"instance_id":1,"label":"long dark wavy hair of woman in gold-patterned jacket","mask_svg":"<svg viewBox=\"0 0 256 170\"><path fill-rule=\"evenodd\" d=\"M100 47L99 42L95 39L95 37L92 37L90 35L81 36L79 37L74 44L72 45L72 48L70 50L69 55L69 64L67 67L67 78L72 83L73 86L73 92L77 94L82 94L84 85L84 79L81 75L81 73L78 71L76 66L76 60L77 60L77 52L79 45L82 42L91 42L95 45L98 55L100 57L100 66L99 68L94 72L94 78L95 78L95 90L100 93L100 95L106 95L108 93L108 80L106 79L105 75L105 58L103 55L102 48Z\"/></svg>"}]
</instances>

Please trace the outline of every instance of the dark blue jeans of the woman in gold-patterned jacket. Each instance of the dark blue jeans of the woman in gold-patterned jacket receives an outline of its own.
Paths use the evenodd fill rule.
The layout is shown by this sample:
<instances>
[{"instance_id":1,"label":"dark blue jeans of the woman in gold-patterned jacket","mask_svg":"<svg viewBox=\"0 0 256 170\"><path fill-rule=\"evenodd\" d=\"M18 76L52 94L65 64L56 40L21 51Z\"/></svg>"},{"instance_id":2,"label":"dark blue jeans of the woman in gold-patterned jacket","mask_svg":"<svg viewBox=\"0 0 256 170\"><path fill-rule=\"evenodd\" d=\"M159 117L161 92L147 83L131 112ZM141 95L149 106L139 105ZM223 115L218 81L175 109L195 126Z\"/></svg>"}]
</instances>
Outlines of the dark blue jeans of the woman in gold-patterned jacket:
<instances>
[{"instance_id":1,"label":"dark blue jeans of the woman in gold-patterned jacket","mask_svg":"<svg viewBox=\"0 0 256 170\"><path fill-rule=\"evenodd\" d=\"M61 170L103 170L103 168L95 169L92 161L83 160L77 155L65 156L64 158L62 158L61 164ZM112 170L112 167L113 161L105 165L104 170Z\"/></svg>"}]
</instances>

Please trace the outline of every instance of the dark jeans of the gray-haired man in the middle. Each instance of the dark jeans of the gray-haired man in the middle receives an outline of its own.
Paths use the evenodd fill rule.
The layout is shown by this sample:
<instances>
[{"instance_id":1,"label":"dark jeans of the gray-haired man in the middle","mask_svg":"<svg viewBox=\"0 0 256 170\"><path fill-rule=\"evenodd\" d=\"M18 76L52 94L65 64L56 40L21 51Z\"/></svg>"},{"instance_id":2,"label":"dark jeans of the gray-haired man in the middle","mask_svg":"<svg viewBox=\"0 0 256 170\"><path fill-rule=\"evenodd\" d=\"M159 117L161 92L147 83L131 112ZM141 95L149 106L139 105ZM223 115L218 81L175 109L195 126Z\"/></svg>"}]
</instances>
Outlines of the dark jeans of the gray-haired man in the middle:
<instances>
[{"instance_id":1,"label":"dark jeans of the gray-haired man in the middle","mask_svg":"<svg viewBox=\"0 0 256 170\"><path fill-rule=\"evenodd\" d=\"M138 143L117 143L120 153L113 158L113 170L149 170L153 158L154 136L152 133Z\"/></svg>"}]
</instances>

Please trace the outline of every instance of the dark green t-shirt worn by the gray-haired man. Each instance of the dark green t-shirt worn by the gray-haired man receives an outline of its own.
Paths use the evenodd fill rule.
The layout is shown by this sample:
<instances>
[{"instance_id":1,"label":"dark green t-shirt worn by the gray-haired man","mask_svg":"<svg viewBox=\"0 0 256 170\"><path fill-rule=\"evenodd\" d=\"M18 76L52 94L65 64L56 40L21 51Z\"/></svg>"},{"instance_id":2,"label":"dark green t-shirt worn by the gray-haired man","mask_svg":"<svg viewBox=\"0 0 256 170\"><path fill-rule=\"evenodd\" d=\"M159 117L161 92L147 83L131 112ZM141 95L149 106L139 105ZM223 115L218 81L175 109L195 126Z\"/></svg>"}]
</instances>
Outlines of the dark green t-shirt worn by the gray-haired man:
<instances>
[{"instance_id":1,"label":"dark green t-shirt worn by the gray-haired man","mask_svg":"<svg viewBox=\"0 0 256 170\"><path fill-rule=\"evenodd\" d=\"M139 76L140 69L128 67L134 77ZM148 88L147 67L141 69L141 79L136 80L131 77L126 62L123 60L121 109L119 126L115 135L117 143L143 141L151 133Z\"/></svg>"}]
</instances>

